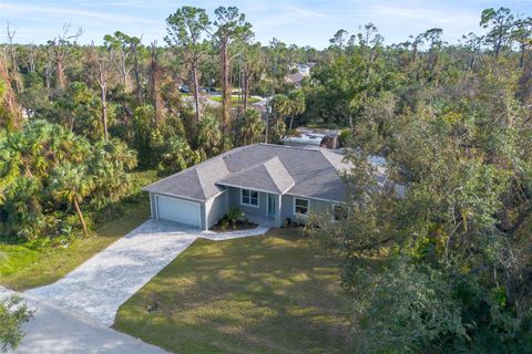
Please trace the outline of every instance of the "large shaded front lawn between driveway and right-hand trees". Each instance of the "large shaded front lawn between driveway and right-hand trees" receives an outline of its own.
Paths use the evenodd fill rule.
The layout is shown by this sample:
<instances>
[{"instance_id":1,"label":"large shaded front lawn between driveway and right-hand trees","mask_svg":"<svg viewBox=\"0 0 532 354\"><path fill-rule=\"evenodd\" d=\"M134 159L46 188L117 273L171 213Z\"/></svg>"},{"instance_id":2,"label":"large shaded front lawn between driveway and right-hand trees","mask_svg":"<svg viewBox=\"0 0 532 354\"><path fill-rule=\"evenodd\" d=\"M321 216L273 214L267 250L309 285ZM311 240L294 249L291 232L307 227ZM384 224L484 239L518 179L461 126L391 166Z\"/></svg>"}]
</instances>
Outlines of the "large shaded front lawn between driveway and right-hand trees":
<instances>
[{"instance_id":1,"label":"large shaded front lawn between driveway and right-hand trees","mask_svg":"<svg viewBox=\"0 0 532 354\"><path fill-rule=\"evenodd\" d=\"M346 353L336 266L297 229L198 239L120 308L114 327L176 353Z\"/></svg>"}]
</instances>

